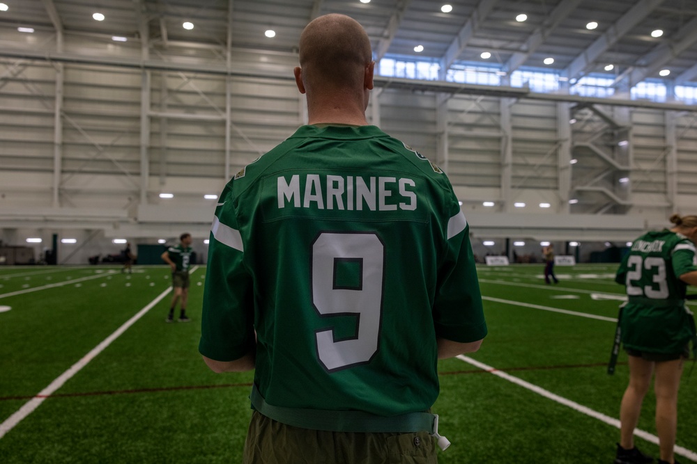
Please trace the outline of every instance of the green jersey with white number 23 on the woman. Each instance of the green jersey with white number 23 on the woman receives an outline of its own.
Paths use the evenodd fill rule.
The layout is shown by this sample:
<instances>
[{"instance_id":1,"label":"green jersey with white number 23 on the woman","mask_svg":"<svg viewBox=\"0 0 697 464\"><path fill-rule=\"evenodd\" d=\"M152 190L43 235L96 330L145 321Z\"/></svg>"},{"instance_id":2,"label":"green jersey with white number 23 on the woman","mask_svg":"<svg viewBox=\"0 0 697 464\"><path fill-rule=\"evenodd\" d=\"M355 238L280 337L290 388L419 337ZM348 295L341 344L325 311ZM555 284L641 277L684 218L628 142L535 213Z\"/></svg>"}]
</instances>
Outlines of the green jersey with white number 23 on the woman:
<instances>
[{"instance_id":1,"label":"green jersey with white number 23 on the woman","mask_svg":"<svg viewBox=\"0 0 697 464\"><path fill-rule=\"evenodd\" d=\"M666 354L684 350L695 334L680 275L691 271L697 271L696 249L682 234L648 232L632 243L615 276L627 287L620 320L625 346Z\"/></svg>"}]
</instances>

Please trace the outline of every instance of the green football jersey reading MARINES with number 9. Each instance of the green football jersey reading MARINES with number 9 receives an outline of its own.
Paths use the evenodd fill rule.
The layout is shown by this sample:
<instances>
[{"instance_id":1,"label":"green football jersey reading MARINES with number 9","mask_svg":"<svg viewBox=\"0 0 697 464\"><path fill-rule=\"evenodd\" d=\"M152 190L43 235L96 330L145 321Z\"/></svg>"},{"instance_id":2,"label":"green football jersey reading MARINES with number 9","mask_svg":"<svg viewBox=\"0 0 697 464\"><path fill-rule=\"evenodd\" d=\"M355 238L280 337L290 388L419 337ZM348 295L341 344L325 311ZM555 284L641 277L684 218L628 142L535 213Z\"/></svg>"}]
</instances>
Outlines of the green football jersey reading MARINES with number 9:
<instances>
[{"instance_id":1,"label":"green football jersey reading MARINES with number 9","mask_svg":"<svg viewBox=\"0 0 697 464\"><path fill-rule=\"evenodd\" d=\"M436 337L487 334L450 182L377 127L300 127L220 202L199 351L235 360L256 330L254 383L270 405L427 410Z\"/></svg>"}]
</instances>

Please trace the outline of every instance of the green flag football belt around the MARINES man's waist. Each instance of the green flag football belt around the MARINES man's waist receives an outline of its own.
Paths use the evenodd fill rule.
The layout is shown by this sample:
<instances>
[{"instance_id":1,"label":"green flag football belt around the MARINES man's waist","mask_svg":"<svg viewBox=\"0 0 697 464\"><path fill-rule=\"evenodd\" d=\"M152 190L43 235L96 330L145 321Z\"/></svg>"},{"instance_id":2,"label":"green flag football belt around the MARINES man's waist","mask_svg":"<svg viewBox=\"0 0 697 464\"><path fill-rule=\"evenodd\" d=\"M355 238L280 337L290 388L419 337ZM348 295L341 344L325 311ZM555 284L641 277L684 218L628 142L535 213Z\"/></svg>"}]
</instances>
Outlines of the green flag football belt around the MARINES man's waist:
<instances>
[{"instance_id":1,"label":"green flag football belt around the MARINES man's waist","mask_svg":"<svg viewBox=\"0 0 697 464\"><path fill-rule=\"evenodd\" d=\"M301 429L323 430L330 432L392 432L438 433L438 415L430 413L407 413L384 417L355 410L320 410L284 408L267 403L256 385L250 395L252 406L259 413L281 422L282 424Z\"/></svg>"}]
</instances>

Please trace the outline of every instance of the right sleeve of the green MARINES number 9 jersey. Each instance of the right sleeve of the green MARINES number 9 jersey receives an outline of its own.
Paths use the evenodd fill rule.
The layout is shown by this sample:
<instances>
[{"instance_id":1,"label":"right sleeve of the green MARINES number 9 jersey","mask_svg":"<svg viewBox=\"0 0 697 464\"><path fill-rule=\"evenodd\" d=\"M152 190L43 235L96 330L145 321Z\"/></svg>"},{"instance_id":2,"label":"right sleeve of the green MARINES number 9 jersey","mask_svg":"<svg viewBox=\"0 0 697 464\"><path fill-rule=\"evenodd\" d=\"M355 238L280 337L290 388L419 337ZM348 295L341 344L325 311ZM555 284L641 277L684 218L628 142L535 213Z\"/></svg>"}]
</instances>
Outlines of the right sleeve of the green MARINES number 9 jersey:
<instances>
[{"instance_id":1,"label":"right sleeve of the green MARINES number 9 jersey","mask_svg":"<svg viewBox=\"0 0 697 464\"><path fill-rule=\"evenodd\" d=\"M438 269L433 310L436 336L459 343L476 342L487 335L487 323L469 225L459 207L447 221L444 238L445 257Z\"/></svg>"}]
</instances>

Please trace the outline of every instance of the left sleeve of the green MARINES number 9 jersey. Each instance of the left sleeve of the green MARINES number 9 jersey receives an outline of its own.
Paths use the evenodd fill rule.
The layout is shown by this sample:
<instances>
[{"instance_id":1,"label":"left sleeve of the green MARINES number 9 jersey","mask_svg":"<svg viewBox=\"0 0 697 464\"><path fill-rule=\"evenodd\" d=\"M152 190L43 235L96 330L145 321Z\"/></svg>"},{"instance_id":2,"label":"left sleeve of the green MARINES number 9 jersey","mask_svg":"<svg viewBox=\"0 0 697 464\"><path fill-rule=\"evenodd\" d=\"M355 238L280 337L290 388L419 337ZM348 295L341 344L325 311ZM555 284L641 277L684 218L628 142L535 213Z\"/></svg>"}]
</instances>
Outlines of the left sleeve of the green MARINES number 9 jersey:
<instances>
[{"instance_id":1,"label":"left sleeve of the green MARINES number 9 jersey","mask_svg":"<svg viewBox=\"0 0 697 464\"><path fill-rule=\"evenodd\" d=\"M220 198L222 205L217 207L210 227L199 353L217 361L232 361L254 349L254 298L228 188Z\"/></svg>"}]
</instances>

